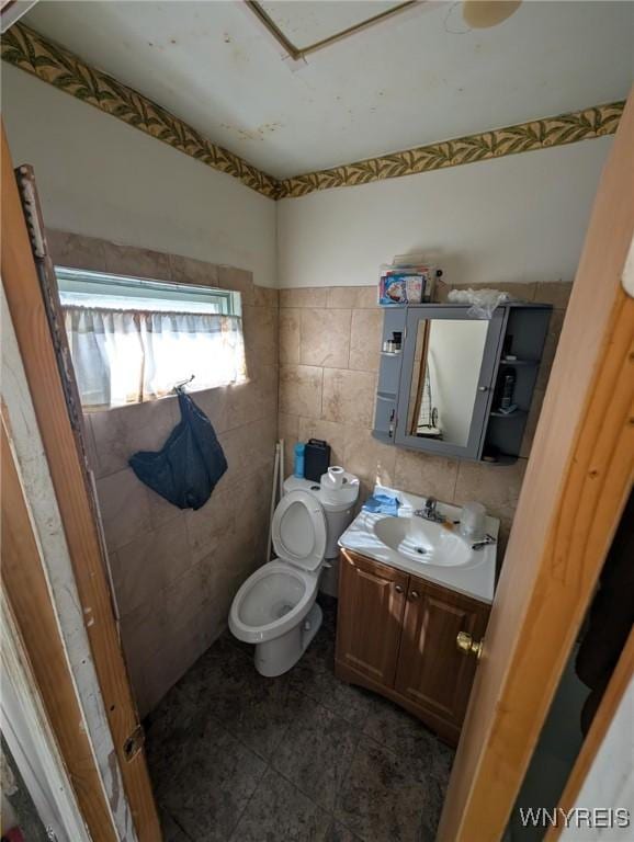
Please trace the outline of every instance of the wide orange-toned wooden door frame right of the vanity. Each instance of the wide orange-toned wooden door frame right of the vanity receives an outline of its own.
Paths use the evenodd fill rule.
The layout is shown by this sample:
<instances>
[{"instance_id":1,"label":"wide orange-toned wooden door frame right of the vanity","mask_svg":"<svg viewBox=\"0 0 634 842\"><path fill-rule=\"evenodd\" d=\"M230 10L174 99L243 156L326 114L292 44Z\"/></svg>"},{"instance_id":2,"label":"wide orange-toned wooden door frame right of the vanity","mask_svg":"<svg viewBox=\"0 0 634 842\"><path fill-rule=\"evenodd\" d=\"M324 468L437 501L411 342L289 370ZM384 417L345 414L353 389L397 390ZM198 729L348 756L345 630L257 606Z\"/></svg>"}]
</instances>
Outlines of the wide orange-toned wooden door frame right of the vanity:
<instances>
[{"instance_id":1,"label":"wide orange-toned wooden door frame right of the vanity","mask_svg":"<svg viewBox=\"0 0 634 842\"><path fill-rule=\"evenodd\" d=\"M634 94L595 200L438 833L498 842L630 489Z\"/></svg>"}]
</instances>

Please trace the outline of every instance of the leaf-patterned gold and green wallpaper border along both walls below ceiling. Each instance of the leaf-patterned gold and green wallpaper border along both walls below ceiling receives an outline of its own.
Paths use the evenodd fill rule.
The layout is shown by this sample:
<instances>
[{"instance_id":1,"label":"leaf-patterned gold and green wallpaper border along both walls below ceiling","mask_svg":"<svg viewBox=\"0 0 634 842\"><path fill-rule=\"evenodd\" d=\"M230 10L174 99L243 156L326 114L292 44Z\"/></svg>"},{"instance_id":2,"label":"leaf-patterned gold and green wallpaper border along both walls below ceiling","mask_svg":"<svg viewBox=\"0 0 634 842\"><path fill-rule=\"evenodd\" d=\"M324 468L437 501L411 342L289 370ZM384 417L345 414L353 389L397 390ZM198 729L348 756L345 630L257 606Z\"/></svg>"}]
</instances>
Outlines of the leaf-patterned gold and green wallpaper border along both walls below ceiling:
<instances>
[{"instance_id":1,"label":"leaf-patterned gold and green wallpaper border along both walls below ceiling","mask_svg":"<svg viewBox=\"0 0 634 842\"><path fill-rule=\"evenodd\" d=\"M624 101L596 105L280 181L22 23L2 36L2 59L207 167L239 179L272 200L296 198L318 190L351 187L612 135L625 105Z\"/></svg>"}]
</instances>

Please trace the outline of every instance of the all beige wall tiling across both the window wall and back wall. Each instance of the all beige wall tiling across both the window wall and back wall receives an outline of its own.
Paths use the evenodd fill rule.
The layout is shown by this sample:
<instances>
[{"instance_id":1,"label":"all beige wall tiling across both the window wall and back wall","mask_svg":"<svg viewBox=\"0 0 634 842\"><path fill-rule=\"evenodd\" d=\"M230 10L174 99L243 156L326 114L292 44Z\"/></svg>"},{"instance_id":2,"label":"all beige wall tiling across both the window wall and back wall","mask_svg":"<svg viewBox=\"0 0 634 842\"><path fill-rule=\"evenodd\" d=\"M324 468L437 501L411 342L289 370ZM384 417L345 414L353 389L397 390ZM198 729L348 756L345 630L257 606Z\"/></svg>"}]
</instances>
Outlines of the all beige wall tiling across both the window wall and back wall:
<instances>
[{"instance_id":1,"label":"all beige wall tiling across both the window wall and back wall","mask_svg":"<svg viewBox=\"0 0 634 842\"><path fill-rule=\"evenodd\" d=\"M374 286L278 293L254 286L248 272L181 255L59 231L49 231L49 246L58 265L242 294L249 382L194 392L229 463L203 509L183 512L167 503L127 466L136 451L162 445L179 421L176 398L86 416L123 646L141 715L223 632L237 588L262 564L278 435L286 444L285 475L297 441L326 439L332 463L361 478L363 496L380 481L457 504L480 500L501 520L501 549L506 546L570 284L508 285L555 309L522 458L497 467L372 437L382 332ZM336 594L336 576L325 590Z\"/></svg>"}]
</instances>

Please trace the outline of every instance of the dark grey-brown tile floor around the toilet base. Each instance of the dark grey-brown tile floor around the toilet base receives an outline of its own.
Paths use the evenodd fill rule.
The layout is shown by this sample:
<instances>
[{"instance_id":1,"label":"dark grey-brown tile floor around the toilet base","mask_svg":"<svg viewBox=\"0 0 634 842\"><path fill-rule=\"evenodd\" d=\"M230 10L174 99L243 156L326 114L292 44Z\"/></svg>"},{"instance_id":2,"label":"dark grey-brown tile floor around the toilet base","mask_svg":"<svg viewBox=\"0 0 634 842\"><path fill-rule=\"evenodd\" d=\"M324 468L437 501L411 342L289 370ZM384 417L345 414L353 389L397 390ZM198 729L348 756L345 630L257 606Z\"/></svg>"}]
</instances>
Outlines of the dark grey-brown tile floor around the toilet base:
<instances>
[{"instance_id":1,"label":"dark grey-brown tile floor around the toilet base","mask_svg":"<svg viewBox=\"0 0 634 842\"><path fill-rule=\"evenodd\" d=\"M432 842L453 751L335 678L336 601L279 679L226 633L147 718L167 842Z\"/></svg>"}]
</instances>

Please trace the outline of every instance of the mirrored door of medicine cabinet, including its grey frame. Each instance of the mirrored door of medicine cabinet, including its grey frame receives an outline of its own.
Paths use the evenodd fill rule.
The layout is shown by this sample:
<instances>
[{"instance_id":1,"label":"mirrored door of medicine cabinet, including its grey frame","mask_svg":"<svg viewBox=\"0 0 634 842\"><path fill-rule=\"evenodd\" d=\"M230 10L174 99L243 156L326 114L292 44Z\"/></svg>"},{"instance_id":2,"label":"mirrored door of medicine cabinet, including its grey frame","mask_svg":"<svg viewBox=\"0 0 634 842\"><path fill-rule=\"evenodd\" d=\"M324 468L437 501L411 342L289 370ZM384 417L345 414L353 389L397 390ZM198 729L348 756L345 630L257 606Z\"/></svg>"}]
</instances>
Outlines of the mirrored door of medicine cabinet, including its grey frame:
<instances>
[{"instance_id":1,"label":"mirrored door of medicine cabinet, including its grey frame","mask_svg":"<svg viewBox=\"0 0 634 842\"><path fill-rule=\"evenodd\" d=\"M478 458L501 341L503 310L412 307L406 319L396 444Z\"/></svg>"}]
</instances>

